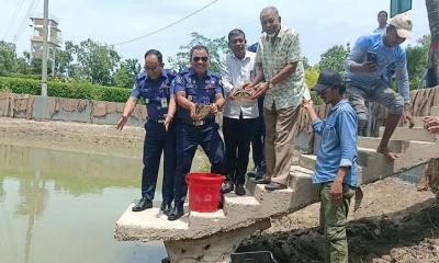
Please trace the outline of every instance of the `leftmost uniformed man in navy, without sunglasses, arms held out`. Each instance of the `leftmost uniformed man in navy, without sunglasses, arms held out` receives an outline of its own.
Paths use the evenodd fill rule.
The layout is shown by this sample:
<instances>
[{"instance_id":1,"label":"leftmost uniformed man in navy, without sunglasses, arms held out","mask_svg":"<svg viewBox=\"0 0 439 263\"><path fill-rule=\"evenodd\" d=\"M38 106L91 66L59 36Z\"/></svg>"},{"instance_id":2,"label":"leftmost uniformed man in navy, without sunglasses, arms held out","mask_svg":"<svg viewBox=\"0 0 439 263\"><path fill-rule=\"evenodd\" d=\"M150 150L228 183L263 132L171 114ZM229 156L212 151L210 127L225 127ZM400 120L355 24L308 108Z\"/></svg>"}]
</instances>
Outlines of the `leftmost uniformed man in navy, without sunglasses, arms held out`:
<instances>
[{"instance_id":1,"label":"leftmost uniformed man in navy, without sunglasses, arms held out","mask_svg":"<svg viewBox=\"0 0 439 263\"><path fill-rule=\"evenodd\" d=\"M153 207L158 168L164 151L162 204L160 209L168 215L173 201L173 179L176 172L176 134L171 123L176 113L176 100L170 85L177 72L164 69L162 55L156 49L145 54L145 71L134 84L116 129L122 130L140 98L145 99L148 121L145 123L144 169L142 172L142 198L133 207L140 211Z\"/></svg>"}]
</instances>

